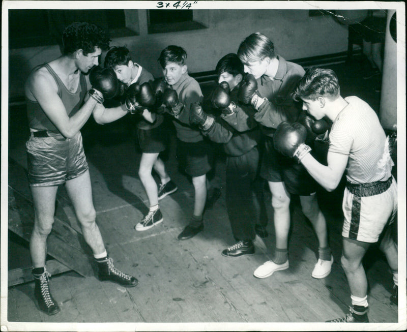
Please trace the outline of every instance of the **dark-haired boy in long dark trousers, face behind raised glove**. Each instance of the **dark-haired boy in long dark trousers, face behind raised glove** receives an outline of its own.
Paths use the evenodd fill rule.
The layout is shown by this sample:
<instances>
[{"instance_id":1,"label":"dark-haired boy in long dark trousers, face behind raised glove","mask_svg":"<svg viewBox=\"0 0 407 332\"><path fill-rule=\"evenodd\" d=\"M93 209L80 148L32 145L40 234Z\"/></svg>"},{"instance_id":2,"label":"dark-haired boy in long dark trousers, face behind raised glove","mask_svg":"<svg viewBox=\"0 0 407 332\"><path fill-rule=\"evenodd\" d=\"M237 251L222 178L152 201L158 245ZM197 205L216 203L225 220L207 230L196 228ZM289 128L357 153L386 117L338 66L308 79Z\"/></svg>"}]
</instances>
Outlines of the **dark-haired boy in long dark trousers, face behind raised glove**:
<instances>
[{"instance_id":1,"label":"dark-haired boy in long dark trousers, face behind raised glove","mask_svg":"<svg viewBox=\"0 0 407 332\"><path fill-rule=\"evenodd\" d=\"M230 108L250 112L250 108L238 103L239 84L243 78L243 64L234 53L223 56L217 66L219 85L212 92L213 107L221 110L221 117ZM200 105L191 107L190 122L198 125L203 135L212 141L223 143L226 161L226 208L229 222L237 243L222 251L226 257L254 254L255 226L267 225L263 188L255 183L259 153L257 141L260 132L256 122L246 123L246 130L238 132L222 118L208 115ZM265 232L265 230L263 230ZM267 233L266 233L267 235Z\"/></svg>"}]
</instances>

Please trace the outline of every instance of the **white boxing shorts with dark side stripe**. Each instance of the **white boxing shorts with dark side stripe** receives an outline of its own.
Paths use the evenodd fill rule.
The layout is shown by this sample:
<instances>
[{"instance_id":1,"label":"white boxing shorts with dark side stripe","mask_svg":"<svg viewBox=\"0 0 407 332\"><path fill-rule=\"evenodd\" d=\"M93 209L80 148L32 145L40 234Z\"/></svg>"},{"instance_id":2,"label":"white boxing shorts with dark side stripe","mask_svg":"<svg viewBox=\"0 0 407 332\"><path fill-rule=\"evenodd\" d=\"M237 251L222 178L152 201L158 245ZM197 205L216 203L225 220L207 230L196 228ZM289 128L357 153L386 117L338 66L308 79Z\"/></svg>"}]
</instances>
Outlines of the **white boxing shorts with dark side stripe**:
<instances>
[{"instance_id":1,"label":"white boxing shorts with dark side stripe","mask_svg":"<svg viewBox=\"0 0 407 332\"><path fill-rule=\"evenodd\" d=\"M389 180L392 182L386 191L371 196L356 195L345 188L342 201L343 237L375 243L386 224L394 221L397 213L397 183L394 178Z\"/></svg>"}]
</instances>

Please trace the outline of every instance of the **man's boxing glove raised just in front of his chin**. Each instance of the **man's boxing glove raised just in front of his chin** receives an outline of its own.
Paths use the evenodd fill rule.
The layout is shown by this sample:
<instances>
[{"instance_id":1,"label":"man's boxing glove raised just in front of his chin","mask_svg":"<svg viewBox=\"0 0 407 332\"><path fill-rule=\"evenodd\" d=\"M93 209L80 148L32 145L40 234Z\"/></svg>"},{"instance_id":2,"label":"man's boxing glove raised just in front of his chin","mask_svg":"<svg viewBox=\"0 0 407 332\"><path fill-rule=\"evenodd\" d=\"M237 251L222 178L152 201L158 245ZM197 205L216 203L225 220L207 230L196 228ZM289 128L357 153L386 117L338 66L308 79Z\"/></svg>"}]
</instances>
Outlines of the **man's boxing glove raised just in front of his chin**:
<instances>
[{"instance_id":1,"label":"man's boxing glove raised just in front of his chin","mask_svg":"<svg viewBox=\"0 0 407 332\"><path fill-rule=\"evenodd\" d=\"M100 66L92 67L89 73L89 81L92 84L92 88L97 90L97 92L100 92L104 99L113 98L119 92L119 80L111 68L102 69ZM89 94L93 98L98 95L92 90L89 92Z\"/></svg>"}]
</instances>

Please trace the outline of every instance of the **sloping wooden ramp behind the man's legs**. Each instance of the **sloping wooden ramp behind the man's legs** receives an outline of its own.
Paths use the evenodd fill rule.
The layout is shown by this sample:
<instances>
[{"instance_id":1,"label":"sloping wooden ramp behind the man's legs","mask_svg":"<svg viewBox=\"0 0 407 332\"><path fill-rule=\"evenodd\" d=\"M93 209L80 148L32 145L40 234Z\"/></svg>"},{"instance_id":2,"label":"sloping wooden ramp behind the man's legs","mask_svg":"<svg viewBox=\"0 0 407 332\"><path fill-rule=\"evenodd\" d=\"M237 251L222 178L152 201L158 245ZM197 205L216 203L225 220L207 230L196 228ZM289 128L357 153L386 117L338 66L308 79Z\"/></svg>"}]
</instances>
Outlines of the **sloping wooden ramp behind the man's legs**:
<instances>
[{"instance_id":1,"label":"sloping wooden ramp behind the man's legs","mask_svg":"<svg viewBox=\"0 0 407 332\"><path fill-rule=\"evenodd\" d=\"M65 199L57 195L56 204L64 206ZM9 160L8 189L8 228L26 241L30 241L34 227L34 207L27 183L26 170L13 160ZM60 213L61 215L61 213ZM84 239L78 227L72 226L69 219L55 216L52 231L48 236L48 255L54 260L47 261L51 274L74 270L79 275L93 275ZM22 267L8 272L8 286L33 280L31 267Z\"/></svg>"}]
</instances>

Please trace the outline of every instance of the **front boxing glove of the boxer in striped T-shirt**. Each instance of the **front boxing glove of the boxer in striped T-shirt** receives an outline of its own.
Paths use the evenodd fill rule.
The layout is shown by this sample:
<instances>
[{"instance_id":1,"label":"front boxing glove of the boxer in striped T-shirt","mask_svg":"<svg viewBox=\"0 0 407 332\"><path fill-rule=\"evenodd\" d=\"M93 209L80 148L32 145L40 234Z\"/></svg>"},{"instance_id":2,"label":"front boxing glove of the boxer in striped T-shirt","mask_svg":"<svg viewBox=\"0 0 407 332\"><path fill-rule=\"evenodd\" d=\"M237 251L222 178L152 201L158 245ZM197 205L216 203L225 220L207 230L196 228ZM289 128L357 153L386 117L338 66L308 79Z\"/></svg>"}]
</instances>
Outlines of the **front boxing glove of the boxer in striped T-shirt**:
<instances>
[{"instance_id":1,"label":"front boxing glove of the boxer in striped T-shirt","mask_svg":"<svg viewBox=\"0 0 407 332\"><path fill-rule=\"evenodd\" d=\"M278 125L273 136L275 149L282 155L295 158L298 162L311 151L311 148L305 144L307 129L299 124L290 125L282 122Z\"/></svg>"}]
</instances>

